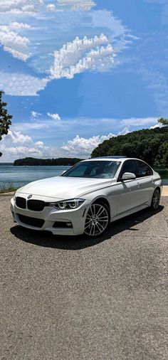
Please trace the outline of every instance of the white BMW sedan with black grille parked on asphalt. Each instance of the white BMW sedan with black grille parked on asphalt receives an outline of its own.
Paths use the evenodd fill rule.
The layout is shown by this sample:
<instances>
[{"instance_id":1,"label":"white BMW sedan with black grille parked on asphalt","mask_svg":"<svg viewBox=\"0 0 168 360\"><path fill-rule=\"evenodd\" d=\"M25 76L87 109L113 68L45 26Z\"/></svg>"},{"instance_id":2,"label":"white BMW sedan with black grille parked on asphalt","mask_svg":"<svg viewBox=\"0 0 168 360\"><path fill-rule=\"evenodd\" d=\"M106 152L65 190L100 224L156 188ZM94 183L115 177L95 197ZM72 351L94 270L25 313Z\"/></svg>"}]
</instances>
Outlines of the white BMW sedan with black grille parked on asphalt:
<instances>
[{"instance_id":1,"label":"white BMW sedan with black grille parked on asphalt","mask_svg":"<svg viewBox=\"0 0 168 360\"><path fill-rule=\"evenodd\" d=\"M34 181L11 199L14 222L56 235L98 236L124 216L159 207L162 181L139 159L100 157Z\"/></svg>"}]
</instances>

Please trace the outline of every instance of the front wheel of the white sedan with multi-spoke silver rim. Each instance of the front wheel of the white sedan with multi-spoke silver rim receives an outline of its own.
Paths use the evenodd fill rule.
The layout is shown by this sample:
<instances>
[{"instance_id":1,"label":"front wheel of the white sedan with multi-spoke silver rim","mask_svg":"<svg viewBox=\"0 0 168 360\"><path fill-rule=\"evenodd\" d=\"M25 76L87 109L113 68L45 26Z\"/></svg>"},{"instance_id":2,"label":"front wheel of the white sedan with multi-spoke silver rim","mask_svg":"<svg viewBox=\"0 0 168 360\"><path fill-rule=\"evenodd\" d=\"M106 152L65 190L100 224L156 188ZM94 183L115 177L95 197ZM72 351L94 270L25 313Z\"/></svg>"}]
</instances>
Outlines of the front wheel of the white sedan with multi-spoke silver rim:
<instances>
[{"instance_id":1,"label":"front wheel of the white sedan with multi-spoke silver rim","mask_svg":"<svg viewBox=\"0 0 168 360\"><path fill-rule=\"evenodd\" d=\"M85 218L85 235L91 238L103 235L110 223L110 211L103 202L93 203Z\"/></svg>"}]
</instances>

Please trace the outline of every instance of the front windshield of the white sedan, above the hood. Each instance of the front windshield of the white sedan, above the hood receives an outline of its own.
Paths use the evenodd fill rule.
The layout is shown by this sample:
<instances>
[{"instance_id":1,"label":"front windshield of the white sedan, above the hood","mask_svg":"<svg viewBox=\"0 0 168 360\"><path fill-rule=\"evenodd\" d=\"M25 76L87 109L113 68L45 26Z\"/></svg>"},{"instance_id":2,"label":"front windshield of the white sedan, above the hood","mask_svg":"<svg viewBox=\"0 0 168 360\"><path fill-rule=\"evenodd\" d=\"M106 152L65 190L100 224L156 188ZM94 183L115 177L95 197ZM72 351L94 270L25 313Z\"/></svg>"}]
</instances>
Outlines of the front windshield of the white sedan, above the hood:
<instances>
[{"instance_id":1,"label":"front windshield of the white sedan, above the hood","mask_svg":"<svg viewBox=\"0 0 168 360\"><path fill-rule=\"evenodd\" d=\"M107 162L107 161L88 161L80 162L65 172L62 176L69 177L84 177L84 178L97 178L97 179L112 179L120 162Z\"/></svg>"}]
</instances>

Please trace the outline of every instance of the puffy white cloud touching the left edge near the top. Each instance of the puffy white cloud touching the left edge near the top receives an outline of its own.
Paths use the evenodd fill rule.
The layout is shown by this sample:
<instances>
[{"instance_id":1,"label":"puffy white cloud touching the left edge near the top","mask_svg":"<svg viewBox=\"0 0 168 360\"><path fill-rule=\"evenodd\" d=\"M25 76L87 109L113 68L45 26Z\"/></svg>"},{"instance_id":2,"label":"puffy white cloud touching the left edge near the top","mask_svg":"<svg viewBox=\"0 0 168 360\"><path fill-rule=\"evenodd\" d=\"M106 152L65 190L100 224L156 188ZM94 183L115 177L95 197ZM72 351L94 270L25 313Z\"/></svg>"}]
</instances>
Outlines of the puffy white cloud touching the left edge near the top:
<instances>
[{"instance_id":1,"label":"puffy white cloud touching the left edge near the top","mask_svg":"<svg viewBox=\"0 0 168 360\"><path fill-rule=\"evenodd\" d=\"M13 27L0 26L0 44L3 46L4 51L11 53L14 58L26 61L31 56L31 53L28 51L30 41L26 36L20 36L13 31L12 28L14 28L14 26L16 26L16 23L13 23ZM23 25L21 26L23 27Z\"/></svg>"}]
</instances>

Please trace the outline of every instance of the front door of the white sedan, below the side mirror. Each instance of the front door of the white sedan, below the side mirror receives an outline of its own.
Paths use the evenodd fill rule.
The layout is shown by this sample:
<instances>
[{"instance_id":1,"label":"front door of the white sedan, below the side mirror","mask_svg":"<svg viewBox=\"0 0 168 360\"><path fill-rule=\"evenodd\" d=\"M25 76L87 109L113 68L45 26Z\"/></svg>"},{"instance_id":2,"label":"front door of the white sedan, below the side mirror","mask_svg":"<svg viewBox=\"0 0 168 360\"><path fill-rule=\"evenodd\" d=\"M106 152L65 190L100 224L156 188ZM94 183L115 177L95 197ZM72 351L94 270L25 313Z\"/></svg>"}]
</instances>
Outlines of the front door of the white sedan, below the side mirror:
<instances>
[{"instance_id":1,"label":"front door of the white sedan, below the side mirror","mask_svg":"<svg viewBox=\"0 0 168 360\"><path fill-rule=\"evenodd\" d=\"M120 171L117 181L117 216L122 215L133 208L140 206L140 181L139 179L122 180L122 175L125 172L131 172L136 176L136 162L135 160L126 160Z\"/></svg>"}]
</instances>

